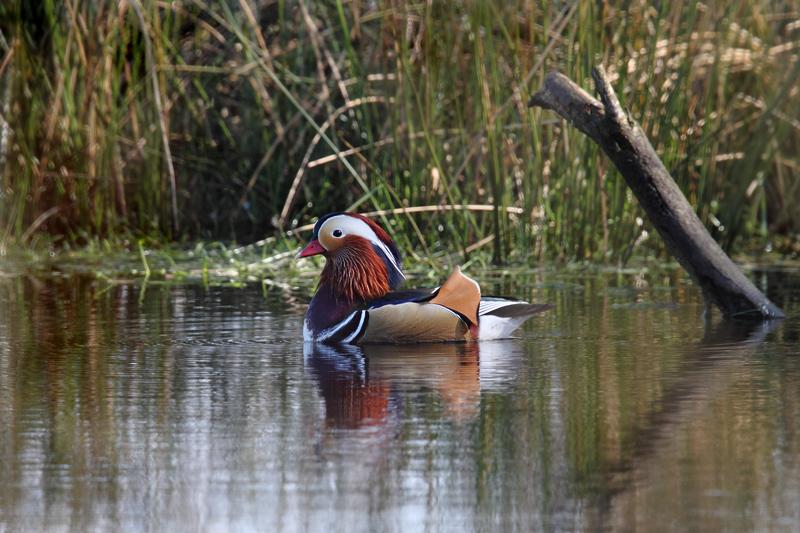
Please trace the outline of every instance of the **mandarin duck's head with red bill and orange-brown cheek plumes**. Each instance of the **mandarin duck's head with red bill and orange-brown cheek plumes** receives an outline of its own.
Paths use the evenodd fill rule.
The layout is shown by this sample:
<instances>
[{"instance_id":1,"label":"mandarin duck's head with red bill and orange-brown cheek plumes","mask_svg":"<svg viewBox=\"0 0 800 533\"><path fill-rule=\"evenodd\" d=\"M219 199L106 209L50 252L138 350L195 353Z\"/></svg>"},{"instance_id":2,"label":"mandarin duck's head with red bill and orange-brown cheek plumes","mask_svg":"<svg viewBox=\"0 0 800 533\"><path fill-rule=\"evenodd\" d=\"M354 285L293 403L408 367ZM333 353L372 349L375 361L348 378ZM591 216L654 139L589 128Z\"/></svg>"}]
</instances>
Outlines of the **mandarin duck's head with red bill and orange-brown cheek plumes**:
<instances>
[{"instance_id":1,"label":"mandarin duck's head with red bill and orange-brown cheek plumes","mask_svg":"<svg viewBox=\"0 0 800 533\"><path fill-rule=\"evenodd\" d=\"M355 213L331 213L314 226L311 242L297 257L325 256L320 288L337 300L368 301L405 280L400 252L386 231Z\"/></svg>"}]
</instances>

